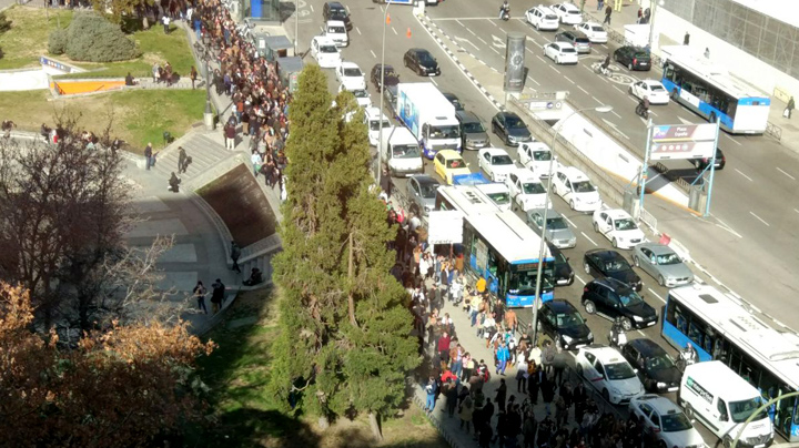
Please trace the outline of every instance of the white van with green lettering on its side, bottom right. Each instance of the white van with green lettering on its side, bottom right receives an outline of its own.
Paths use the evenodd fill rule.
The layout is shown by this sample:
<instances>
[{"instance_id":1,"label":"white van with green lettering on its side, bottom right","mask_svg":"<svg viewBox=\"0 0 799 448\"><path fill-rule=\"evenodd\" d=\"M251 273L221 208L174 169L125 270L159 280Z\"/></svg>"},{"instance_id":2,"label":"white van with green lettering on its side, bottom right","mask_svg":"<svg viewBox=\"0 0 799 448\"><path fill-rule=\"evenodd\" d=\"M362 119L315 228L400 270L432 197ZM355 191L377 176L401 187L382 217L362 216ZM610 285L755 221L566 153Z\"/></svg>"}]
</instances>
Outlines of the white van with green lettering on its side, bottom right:
<instances>
[{"instance_id":1,"label":"white van with green lettering on its side, bottom right","mask_svg":"<svg viewBox=\"0 0 799 448\"><path fill-rule=\"evenodd\" d=\"M726 447L738 436L741 448L765 448L773 441L773 427L766 411L739 434L763 401L758 389L720 360L686 367L677 401L689 418L696 416Z\"/></svg>"}]
</instances>

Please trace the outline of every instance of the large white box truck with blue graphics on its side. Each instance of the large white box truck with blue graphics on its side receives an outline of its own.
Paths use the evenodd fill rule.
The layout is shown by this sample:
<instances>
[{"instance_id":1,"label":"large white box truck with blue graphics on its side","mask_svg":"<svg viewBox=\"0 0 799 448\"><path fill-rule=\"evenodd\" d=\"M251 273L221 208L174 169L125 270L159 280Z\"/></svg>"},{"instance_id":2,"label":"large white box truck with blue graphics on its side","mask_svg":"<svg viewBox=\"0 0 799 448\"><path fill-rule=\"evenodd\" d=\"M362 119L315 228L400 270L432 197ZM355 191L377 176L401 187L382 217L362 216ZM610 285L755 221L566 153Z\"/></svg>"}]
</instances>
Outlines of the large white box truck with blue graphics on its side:
<instances>
[{"instance_id":1,"label":"large white box truck with blue graphics on its side","mask_svg":"<svg viewBox=\"0 0 799 448\"><path fill-rule=\"evenodd\" d=\"M429 82L397 84L396 114L419 142L427 159L441 150L461 152L455 106Z\"/></svg>"}]
</instances>

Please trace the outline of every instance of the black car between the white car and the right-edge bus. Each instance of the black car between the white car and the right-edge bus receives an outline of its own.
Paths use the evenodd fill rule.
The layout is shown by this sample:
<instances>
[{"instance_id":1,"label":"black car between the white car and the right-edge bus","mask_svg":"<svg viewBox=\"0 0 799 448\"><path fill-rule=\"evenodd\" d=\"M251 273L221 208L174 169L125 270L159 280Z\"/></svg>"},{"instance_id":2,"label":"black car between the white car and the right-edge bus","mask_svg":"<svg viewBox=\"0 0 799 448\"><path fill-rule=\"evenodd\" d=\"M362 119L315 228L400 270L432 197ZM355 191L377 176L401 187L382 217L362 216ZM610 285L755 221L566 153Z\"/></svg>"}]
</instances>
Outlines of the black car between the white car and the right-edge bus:
<instances>
[{"instance_id":1,"label":"black car between the white car and the right-edge bus","mask_svg":"<svg viewBox=\"0 0 799 448\"><path fill-rule=\"evenodd\" d=\"M647 391L667 393L679 388L681 374L674 359L656 342L643 337L628 340L621 355L638 373Z\"/></svg>"}]
</instances>

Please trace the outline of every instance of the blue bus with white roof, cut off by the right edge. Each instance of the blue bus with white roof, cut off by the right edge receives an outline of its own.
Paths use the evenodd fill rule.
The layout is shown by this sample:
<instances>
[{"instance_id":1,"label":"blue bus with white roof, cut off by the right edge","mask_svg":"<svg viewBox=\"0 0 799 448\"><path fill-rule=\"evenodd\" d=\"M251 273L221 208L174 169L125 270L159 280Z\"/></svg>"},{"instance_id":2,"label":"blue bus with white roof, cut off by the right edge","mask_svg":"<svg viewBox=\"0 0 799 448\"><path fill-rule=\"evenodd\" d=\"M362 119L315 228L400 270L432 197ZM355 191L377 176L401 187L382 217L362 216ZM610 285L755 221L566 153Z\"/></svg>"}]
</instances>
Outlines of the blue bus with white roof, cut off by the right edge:
<instances>
[{"instance_id":1,"label":"blue bus with white roof, cut off by the right edge","mask_svg":"<svg viewBox=\"0 0 799 448\"><path fill-rule=\"evenodd\" d=\"M799 390L799 336L770 327L735 297L709 285L677 287L661 322L669 344L691 343L700 362L724 362L765 400ZM797 404L797 397L781 399L773 411L775 430L791 442L799 441Z\"/></svg>"}]
</instances>

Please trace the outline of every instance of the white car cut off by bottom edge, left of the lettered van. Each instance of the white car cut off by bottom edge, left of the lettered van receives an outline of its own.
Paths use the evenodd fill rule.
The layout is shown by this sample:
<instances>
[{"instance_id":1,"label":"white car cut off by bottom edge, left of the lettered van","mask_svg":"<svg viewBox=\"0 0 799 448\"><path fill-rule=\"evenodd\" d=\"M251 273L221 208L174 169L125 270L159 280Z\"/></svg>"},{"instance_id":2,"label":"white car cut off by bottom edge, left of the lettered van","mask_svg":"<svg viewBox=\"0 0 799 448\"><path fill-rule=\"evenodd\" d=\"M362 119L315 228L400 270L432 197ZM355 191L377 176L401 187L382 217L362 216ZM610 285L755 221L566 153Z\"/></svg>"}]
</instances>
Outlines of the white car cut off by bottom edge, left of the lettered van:
<instances>
[{"instance_id":1,"label":"white car cut off by bottom edge, left of the lettered van","mask_svg":"<svg viewBox=\"0 0 799 448\"><path fill-rule=\"evenodd\" d=\"M629 404L630 414L641 418L660 446L669 448L709 448L691 420L670 399L655 394L635 397Z\"/></svg>"}]
</instances>

